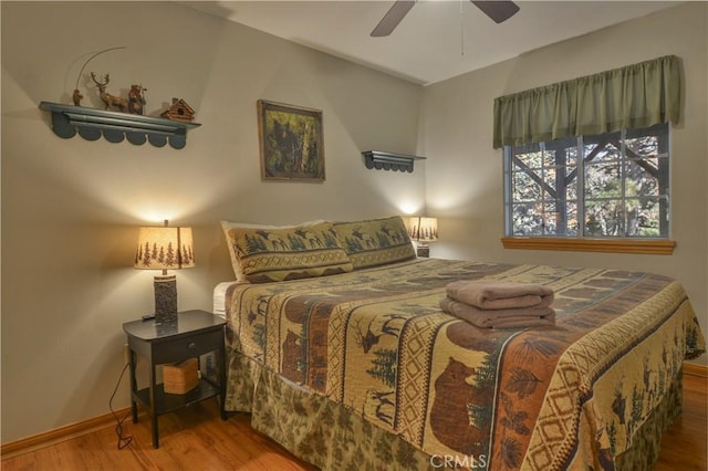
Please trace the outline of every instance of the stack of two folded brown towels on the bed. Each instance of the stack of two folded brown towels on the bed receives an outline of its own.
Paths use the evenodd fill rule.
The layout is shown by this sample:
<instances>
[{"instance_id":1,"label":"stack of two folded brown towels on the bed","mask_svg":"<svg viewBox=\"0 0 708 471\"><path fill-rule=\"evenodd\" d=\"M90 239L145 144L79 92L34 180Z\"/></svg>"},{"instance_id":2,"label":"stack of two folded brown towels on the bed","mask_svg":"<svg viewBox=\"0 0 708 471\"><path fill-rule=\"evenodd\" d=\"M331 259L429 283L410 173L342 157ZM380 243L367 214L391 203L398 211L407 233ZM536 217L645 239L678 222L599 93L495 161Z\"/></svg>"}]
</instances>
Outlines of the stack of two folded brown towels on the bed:
<instances>
[{"instance_id":1,"label":"stack of two folded brown towels on the bed","mask_svg":"<svg viewBox=\"0 0 708 471\"><path fill-rule=\"evenodd\" d=\"M542 284L496 280L461 280L446 286L442 311L477 327L519 328L551 326L553 290Z\"/></svg>"}]
</instances>

